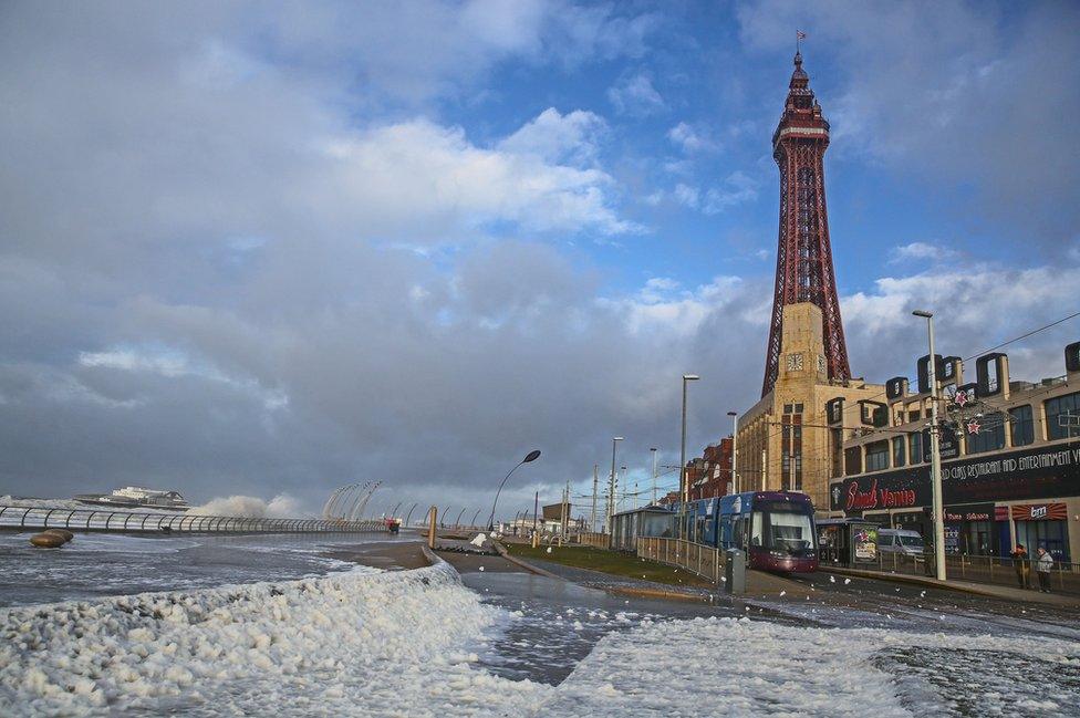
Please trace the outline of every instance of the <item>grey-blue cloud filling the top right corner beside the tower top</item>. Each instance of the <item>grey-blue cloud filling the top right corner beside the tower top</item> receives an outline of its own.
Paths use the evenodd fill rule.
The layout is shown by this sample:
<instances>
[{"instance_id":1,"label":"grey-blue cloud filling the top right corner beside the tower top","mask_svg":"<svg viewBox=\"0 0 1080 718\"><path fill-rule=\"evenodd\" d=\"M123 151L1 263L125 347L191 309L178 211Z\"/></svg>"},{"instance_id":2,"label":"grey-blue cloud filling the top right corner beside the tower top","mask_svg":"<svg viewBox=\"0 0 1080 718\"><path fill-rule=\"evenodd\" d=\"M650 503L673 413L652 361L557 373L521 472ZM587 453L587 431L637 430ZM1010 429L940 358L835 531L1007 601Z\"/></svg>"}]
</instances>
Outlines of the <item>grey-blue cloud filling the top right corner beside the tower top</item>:
<instances>
[{"instance_id":1,"label":"grey-blue cloud filling the top right corner beside the tower top","mask_svg":"<svg viewBox=\"0 0 1080 718\"><path fill-rule=\"evenodd\" d=\"M1080 6L1008 7L949 1L927 13L917 3L831 1L806 15L764 0L737 17L755 49L786 50L790 29L804 27L809 72L825 56L844 73L825 108L834 152L965 188L977 204L957 208L965 218L1005 223L1056 254L1080 220L1080 165L1062 152L1080 115Z\"/></svg>"}]
</instances>

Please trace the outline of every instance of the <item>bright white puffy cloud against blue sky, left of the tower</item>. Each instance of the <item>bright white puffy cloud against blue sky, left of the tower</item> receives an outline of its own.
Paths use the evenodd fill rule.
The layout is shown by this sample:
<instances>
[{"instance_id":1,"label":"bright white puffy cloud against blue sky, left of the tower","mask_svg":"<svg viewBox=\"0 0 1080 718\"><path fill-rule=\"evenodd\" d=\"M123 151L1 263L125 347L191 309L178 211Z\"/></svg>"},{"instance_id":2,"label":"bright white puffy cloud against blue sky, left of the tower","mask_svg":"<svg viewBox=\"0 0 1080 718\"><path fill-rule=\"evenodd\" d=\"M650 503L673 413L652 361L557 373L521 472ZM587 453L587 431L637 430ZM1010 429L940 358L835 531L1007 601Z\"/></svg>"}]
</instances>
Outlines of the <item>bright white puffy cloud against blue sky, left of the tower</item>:
<instances>
[{"instance_id":1,"label":"bright white puffy cloud against blue sky, left of the tower","mask_svg":"<svg viewBox=\"0 0 1080 718\"><path fill-rule=\"evenodd\" d=\"M460 128L426 119L378 127L326 146L339 189L328 186L311 201L329 198L326 214L344 209L342 219L364 221L373 233L416 239L432 223L463 230L512 221L532 230L635 231L613 207L611 176L550 164L557 157L581 163L594 156L598 127L602 122L589 113L563 118L547 111L496 149L472 145Z\"/></svg>"}]
</instances>

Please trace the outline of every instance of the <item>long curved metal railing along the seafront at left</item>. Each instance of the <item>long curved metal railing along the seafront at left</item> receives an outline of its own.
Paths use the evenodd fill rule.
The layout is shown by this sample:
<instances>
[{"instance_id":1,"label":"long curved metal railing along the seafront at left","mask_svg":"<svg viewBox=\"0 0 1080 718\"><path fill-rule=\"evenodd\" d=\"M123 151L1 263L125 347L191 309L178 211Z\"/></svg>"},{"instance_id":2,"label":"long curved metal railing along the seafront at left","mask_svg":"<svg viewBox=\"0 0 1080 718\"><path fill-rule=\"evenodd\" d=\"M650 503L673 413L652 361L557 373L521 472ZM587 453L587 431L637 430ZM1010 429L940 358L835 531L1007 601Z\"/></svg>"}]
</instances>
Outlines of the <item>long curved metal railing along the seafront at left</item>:
<instances>
[{"instance_id":1,"label":"long curved metal railing along the seafront at left","mask_svg":"<svg viewBox=\"0 0 1080 718\"><path fill-rule=\"evenodd\" d=\"M388 530L386 523L378 520L248 519L22 506L0 506L0 529L72 529L116 533L362 533Z\"/></svg>"}]
</instances>

